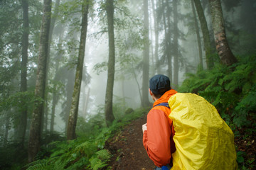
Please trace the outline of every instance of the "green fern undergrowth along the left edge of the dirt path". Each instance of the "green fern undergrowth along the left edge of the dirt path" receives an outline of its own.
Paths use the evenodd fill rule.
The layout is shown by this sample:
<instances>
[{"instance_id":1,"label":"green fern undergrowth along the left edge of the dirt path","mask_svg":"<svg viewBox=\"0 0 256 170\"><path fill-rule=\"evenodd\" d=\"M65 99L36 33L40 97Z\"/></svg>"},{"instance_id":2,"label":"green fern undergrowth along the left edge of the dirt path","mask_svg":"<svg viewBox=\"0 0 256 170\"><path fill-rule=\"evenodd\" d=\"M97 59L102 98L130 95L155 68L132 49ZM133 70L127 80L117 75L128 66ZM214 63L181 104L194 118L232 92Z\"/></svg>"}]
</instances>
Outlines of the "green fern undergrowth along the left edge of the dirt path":
<instances>
[{"instance_id":1,"label":"green fern undergrowth along the left edge of the dirt path","mask_svg":"<svg viewBox=\"0 0 256 170\"><path fill-rule=\"evenodd\" d=\"M51 142L41 149L41 153L38 154L41 157L38 157L36 162L27 164L24 168L28 170L110 169L107 166L112 154L105 148L105 142L131 120L142 116L142 113L144 111L140 109L124 115L122 119L114 120L109 128L103 122L85 123L80 118L77 128L77 134L80 136L78 135L76 140ZM95 118L101 116L98 114ZM91 121L95 119L92 118ZM87 131L81 132L81 130ZM46 155L50 156L46 157Z\"/></svg>"}]
</instances>

